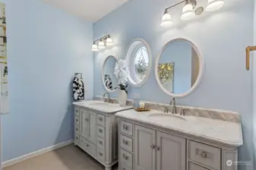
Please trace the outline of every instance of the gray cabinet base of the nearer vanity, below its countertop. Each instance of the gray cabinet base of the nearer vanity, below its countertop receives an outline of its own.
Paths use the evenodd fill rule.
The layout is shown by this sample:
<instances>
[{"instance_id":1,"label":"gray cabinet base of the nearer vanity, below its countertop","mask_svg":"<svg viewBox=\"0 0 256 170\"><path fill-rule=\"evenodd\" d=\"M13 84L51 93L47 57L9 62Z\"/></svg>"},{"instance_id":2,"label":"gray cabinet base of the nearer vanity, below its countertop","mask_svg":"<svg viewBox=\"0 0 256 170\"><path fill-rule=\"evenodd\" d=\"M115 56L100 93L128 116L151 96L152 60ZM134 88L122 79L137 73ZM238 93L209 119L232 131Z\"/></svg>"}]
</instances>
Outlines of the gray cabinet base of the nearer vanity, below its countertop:
<instances>
[{"instance_id":1,"label":"gray cabinet base of the nearer vanity, below its countertop","mask_svg":"<svg viewBox=\"0 0 256 170\"><path fill-rule=\"evenodd\" d=\"M194 139L119 117L119 169L237 170L237 148Z\"/></svg>"}]
</instances>

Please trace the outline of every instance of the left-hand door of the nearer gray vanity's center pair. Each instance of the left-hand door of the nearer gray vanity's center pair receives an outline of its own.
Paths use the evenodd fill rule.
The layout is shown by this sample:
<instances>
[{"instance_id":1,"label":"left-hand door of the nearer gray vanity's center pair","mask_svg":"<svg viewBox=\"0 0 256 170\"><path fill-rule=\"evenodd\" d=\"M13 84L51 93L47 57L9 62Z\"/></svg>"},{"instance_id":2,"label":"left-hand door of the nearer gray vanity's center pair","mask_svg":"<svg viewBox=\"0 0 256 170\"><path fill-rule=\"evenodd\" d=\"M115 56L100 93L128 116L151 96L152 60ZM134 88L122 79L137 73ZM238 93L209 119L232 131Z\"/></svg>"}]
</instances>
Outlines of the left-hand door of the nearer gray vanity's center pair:
<instances>
[{"instance_id":1,"label":"left-hand door of the nearer gray vanity's center pair","mask_svg":"<svg viewBox=\"0 0 256 170\"><path fill-rule=\"evenodd\" d=\"M155 170L156 169L156 131L134 126L134 169Z\"/></svg>"}]
</instances>

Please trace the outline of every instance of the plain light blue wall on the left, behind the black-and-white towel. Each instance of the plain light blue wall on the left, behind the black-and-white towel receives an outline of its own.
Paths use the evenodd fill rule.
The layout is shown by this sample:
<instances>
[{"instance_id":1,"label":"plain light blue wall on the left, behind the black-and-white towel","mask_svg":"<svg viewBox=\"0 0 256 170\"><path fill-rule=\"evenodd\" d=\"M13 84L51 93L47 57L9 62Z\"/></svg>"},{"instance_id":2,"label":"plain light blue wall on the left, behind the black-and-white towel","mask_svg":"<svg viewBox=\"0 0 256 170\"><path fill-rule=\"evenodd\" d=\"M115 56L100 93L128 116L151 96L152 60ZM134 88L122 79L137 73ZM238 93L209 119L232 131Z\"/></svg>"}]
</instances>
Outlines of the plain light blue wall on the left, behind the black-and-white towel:
<instances>
[{"instance_id":1,"label":"plain light blue wall on the left, behind the black-and-white towel","mask_svg":"<svg viewBox=\"0 0 256 170\"><path fill-rule=\"evenodd\" d=\"M7 5L10 114L3 161L73 138L71 80L83 73L93 98L93 25L41 0Z\"/></svg>"}]
</instances>

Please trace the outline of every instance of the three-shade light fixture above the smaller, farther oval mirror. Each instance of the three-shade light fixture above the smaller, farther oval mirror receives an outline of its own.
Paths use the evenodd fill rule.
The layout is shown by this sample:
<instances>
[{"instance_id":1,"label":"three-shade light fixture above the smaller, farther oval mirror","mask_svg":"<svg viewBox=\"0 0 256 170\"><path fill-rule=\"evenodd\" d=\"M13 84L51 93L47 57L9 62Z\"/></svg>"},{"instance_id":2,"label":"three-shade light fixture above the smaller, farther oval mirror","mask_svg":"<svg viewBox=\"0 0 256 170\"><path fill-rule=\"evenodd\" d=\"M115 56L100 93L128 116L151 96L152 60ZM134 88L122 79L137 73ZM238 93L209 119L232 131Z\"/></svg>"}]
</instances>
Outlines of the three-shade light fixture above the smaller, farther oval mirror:
<instances>
[{"instance_id":1,"label":"three-shade light fixture above the smaller, farther oval mirror","mask_svg":"<svg viewBox=\"0 0 256 170\"><path fill-rule=\"evenodd\" d=\"M111 48L112 46L113 46L113 41L110 35L107 35L107 36L101 37L100 39L96 39L93 42L92 51L100 51L105 48Z\"/></svg>"}]
</instances>

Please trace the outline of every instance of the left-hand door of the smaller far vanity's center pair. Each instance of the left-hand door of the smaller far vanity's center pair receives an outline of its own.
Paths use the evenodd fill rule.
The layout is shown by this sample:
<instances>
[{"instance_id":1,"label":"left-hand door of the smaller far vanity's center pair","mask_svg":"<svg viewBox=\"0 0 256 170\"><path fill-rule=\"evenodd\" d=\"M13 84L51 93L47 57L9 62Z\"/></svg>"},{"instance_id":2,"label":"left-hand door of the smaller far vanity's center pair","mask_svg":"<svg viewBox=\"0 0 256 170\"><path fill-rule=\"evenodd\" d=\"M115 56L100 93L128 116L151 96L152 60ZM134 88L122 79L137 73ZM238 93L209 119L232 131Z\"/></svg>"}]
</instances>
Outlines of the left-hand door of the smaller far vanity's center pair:
<instances>
[{"instance_id":1,"label":"left-hand door of the smaller far vanity's center pair","mask_svg":"<svg viewBox=\"0 0 256 170\"><path fill-rule=\"evenodd\" d=\"M90 134L90 113L87 110L81 110L81 135L88 139Z\"/></svg>"}]
</instances>

